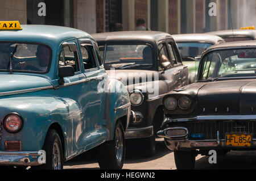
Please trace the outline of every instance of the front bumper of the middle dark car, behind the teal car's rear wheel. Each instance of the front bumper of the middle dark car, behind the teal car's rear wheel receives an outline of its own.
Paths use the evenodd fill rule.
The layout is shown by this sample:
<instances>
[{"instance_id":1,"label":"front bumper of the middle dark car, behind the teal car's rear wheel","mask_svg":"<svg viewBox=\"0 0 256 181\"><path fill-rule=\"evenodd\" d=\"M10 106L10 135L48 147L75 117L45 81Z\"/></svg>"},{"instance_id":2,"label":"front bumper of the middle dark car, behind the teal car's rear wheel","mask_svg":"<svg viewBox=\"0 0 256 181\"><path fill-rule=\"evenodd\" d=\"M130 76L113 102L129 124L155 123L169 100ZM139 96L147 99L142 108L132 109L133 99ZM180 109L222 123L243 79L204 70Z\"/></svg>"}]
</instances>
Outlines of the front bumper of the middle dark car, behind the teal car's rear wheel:
<instances>
[{"instance_id":1,"label":"front bumper of the middle dark car, behind the teal car's rear wheel","mask_svg":"<svg viewBox=\"0 0 256 181\"><path fill-rule=\"evenodd\" d=\"M125 132L126 139L147 138L154 135L153 126L146 128L128 128Z\"/></svg>"}]
</instances>

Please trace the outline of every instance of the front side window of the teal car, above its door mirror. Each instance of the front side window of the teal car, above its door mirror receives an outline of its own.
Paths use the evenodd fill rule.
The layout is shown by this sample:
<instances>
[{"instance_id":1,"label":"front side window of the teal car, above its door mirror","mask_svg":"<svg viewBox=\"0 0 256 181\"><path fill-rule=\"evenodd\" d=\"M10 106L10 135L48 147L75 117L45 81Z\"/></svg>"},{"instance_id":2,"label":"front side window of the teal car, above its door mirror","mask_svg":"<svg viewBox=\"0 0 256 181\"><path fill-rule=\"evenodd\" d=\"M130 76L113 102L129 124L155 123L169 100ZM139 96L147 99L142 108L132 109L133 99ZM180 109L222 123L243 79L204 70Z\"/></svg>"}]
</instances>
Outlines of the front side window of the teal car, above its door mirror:
<instances>
[{"instance_id":1,"label":"front side window of the teal car, above its door mirror","mask_svg":"<svg viewBox=\"0 0 256 181\"><path fill-rule=\"evenodd\" d=\"M60 53L59 66L73 66L75 72L79 71L78 58L76 52L69 50L68 46L65 46Z\"/></svg>"}]
</instances>

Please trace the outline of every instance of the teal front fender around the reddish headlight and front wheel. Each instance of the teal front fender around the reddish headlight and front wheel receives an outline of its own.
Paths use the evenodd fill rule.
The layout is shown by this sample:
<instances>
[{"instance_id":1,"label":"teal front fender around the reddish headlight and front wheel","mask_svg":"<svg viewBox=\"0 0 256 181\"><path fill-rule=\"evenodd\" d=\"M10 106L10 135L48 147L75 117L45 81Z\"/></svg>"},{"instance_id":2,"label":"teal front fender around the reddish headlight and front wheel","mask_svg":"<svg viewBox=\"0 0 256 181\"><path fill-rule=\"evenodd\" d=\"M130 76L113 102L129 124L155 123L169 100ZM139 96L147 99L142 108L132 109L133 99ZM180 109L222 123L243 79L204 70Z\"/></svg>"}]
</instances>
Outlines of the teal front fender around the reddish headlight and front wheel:
<instances>
[{"instance_id":1,"label":"teal front fender around the reddish headlight and front wheel","mask_svg":"<svg viewBox=\"0 0 256 181\"><path fill-rule=\"evenodd\" d=\"M81 113L75 100L56 96L19 96L0 99L0 110L3 115L1 121L13 112L22 117L23 128L20 132L8 133L5 129L2 132L4 140L22 141L22 150L25 151L42 149L48 129L53 123L58 123L63 130L67 138L65 144L72 142L72 130L69 128L72 128L72 119L79 120Z\"/></svg>"}]
</instances>

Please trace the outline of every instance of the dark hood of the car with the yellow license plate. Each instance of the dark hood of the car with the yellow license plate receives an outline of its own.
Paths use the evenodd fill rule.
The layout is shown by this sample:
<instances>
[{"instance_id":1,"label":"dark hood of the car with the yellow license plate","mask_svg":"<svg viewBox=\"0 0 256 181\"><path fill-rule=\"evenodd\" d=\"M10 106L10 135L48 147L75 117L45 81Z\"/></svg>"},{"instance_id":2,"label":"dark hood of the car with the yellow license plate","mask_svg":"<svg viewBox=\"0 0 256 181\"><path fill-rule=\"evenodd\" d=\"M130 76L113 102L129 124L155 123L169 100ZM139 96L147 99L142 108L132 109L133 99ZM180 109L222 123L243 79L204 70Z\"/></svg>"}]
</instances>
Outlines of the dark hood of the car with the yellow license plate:
<instances>
[{"instance_id":1,"label":"dark hood of the car with the yellow license plate","mask_svg":"<svg viewBox=\"0 0 256 181\"><path fill-rule=\"evenodd\" d=\"M256 113L256 79L201 83L198 88L199 115Z\"/></svg>"}]
</instances>

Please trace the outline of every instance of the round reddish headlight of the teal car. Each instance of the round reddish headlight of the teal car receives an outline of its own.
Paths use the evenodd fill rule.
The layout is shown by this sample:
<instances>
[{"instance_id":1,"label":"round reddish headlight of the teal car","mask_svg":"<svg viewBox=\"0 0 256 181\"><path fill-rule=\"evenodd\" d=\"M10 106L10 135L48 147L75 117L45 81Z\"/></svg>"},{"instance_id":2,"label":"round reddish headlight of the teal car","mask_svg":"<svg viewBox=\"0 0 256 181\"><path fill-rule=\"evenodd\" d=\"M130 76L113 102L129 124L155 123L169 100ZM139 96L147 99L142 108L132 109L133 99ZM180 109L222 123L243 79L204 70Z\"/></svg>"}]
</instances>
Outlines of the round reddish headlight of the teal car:
<instances>
[{"instance_id":1,"label":"round reddish headlight of the teal car","mask_svg":"<svg viewBox=\"0 0 256 181\"><path fill-rule=\"evenodd\" d=\"M22 128L22 119L19 115L11 113L10 115L7 115L3 120L3 127L9 133L16 133Z\"/></svg>"}]
</instances>

